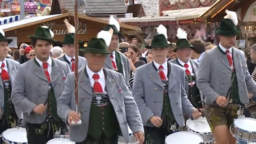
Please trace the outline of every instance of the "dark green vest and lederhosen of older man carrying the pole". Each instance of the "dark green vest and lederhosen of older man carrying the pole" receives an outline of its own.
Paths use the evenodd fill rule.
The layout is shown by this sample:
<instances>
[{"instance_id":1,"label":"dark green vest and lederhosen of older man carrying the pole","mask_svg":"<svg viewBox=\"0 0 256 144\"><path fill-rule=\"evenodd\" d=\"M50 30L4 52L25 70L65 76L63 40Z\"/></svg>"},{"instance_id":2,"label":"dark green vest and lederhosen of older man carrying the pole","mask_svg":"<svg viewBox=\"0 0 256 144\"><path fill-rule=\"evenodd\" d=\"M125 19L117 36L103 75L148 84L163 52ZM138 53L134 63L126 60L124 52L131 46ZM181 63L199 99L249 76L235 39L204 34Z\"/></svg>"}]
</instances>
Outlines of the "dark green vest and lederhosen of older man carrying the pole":
<instances>
[{"instance_id":1,"label":"dark green vest and lederhosen of older man carrying the pole","mask_svg":"<svg viewBox=\"0 0 256 144\"><path fill-rule=\"evenodd\" d=\"M107 79L104 69L103 72ZM86 68L84 73L89 79ZM105 91L107 92L107 88ZM88 134L83 142L76 144L117 144L121 130L108 93L96 93L93 88L92 93Z\"/></svg>"}]
</instances>

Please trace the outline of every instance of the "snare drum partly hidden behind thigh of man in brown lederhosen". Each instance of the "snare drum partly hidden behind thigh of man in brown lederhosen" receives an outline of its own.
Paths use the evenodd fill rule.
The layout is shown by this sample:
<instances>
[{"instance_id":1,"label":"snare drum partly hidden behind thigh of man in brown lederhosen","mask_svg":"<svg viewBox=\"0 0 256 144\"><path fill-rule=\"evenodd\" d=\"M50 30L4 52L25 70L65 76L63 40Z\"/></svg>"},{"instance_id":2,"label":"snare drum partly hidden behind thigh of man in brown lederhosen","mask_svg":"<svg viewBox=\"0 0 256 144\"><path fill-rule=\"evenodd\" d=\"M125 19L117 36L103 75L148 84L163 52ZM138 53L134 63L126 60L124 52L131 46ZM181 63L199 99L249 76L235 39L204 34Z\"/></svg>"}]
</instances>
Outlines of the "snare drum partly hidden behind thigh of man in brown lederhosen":
<instances>
[{"instance_id":1,"label":"snare drum partly hidden behind thigh of man in brown lederhosen","mask_svg":"<svg viewBox=\"0 0 256 144\"><path fill-rule=\"evenodd\" d=\"M210 144L213 142L213 134L205 117L200 117L195 120L188 119L186 121L186 126L188 131L201 135L204 139L204 144Z\"/></svg>"}]
</instances>

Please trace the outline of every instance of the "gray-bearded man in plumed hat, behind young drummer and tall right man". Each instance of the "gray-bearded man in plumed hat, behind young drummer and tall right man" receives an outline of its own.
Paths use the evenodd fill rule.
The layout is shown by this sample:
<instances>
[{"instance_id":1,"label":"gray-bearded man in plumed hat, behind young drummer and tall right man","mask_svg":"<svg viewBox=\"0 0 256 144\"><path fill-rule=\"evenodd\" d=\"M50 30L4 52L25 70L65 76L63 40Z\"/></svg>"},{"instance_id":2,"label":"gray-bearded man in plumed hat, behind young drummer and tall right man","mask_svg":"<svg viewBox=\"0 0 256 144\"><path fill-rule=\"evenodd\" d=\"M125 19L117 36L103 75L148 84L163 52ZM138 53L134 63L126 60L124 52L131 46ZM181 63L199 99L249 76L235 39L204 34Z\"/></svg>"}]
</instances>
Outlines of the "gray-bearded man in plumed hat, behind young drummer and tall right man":
<instances>
[{"instance_id":1,"label":"gray-bearded man in plumed hat, behind young drummer and tall right man","mask_svg":"<svg viewBox=\"0 0 256 144\"><path fill-rule=\"evenodd\" d=\"M172 59L169 62L180 65L184 69L186 72L185 90L189 101L193 104L194 107L202 108L203 106L199 102L202 101L201 98L203 96L201 97L200 91L196 86L196 77L199 63L194 60L190 60L192 50L195 48L188 42L186 31L183 31L181 28L177 30L177 37L177 45L174 51L177 52L178 57L176 59Z\"/></svg>"}]
</instances>

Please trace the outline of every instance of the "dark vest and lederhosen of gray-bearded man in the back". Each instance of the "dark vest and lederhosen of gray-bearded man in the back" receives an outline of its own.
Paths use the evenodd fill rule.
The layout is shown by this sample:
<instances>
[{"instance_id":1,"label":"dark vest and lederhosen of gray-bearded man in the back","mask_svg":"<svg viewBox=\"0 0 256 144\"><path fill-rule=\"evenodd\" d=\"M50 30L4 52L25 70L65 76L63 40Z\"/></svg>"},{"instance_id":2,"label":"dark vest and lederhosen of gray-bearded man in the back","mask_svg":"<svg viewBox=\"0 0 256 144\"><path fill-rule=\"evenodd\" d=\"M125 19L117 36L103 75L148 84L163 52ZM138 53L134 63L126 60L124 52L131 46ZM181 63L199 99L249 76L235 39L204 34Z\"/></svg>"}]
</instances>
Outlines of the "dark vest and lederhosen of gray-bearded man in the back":
<instances>
[{"instance_id":1,"label":"dark vest and lederhosen of gray-bearded man in the back","mask_svg":"<svg viewBox=\"0 0 256 144\"><path fill-rule=\"evenodd\" d=\"M178 61L178 59L175 59L177 64L180 65L183 68L183 65L180 64L180 62ZM192 62L190 62L192 65ZM192 65L192 73L195 74L194 72L194 68ZM200 91L198 89L198 87L196 86L196 81L195 81L195 75L186 75L188 77L188 83L189 83L189 93L186 93L188 96L189 101L191 102L191 104L196 107L196 108L202 108L202 103L200 103L201 100L201 95L200 95ZM190 85L192 82L195 82L194 85Z\"/></svg>"}]
</instances>

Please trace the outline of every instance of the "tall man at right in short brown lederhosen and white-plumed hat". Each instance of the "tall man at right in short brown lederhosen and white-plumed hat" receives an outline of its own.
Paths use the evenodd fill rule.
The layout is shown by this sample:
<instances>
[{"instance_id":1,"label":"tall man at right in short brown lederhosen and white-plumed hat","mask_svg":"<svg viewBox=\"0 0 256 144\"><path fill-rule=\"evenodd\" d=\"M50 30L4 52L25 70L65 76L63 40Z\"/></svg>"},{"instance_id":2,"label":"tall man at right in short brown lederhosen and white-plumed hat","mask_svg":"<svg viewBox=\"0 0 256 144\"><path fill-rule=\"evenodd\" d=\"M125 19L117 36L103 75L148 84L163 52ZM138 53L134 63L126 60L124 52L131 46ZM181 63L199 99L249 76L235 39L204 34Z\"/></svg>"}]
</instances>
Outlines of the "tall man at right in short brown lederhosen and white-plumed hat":
<instances>
[{"instance_id":1,"label":"tall man at right in short brown lederhosen and white-plumed hat","mask_svg":"<svg viewBox=\"0 0 256 144\"><path fill-rule=\"evenodd\" d=\"M241 32L236 28L236 12L225 13L220 28L215 30L220 43L204 53L197 86L205 96L205 116L216 144L236 144L229 128L234 119L243 116L244 104L249 103L248 92L256 96L256 83L248 72L244 52L233 47Z\"/></svg>"}]
</instances>

